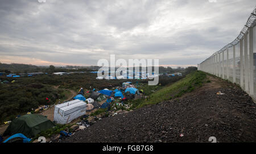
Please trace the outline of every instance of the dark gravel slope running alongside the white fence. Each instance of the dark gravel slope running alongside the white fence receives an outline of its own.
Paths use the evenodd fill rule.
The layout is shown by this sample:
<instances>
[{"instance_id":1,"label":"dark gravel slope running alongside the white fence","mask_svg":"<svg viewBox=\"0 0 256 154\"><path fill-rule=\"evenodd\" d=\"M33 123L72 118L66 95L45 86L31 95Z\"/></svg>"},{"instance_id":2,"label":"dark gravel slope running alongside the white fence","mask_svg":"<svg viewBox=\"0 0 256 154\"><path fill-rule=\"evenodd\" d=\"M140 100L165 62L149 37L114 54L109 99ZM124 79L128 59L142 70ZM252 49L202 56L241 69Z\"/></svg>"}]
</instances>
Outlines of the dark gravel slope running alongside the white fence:
<instances>
[{"instance_id":1,"label":"dark gravel slope running alongside the white fence","mask_svg":"<svg viewBox=\"0 0 256 154\"><path fill-rule=\"evenodd\" d=\"M210 81L179 99L98 120L62 142L255 142L255 103L234 84Z\"/></svg>"}]
</instances>

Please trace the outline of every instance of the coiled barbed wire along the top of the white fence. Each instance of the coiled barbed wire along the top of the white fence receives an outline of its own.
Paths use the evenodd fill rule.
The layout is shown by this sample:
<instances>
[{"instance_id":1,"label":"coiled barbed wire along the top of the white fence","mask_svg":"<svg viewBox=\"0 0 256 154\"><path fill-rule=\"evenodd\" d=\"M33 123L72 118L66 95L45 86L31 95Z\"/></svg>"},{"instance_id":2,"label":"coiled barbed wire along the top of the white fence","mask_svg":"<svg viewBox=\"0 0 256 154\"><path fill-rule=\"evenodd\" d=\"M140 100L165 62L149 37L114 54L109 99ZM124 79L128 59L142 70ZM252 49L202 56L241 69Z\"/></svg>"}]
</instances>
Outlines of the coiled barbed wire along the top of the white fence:
<instances>
[{"instance_id":1,"label":"coiled barbed wire along the top of the white fence","mask_svg":"<svg viewBox=\"0 0 256 154\"><path fill-rule=\"evenodd\" d=\"M256 25L256 7L254 7L253 12L250 14L245 26L243 26L243 28L240 31L240 34L237 36L237 38L235 40L233 40L232 43L225 45L225 47L221 48L219 51L214 52L212 56L216 55L217 53L225 51L225 49L230 48L233 45L237 45L240 42L240 40L243 38L243 36L247 33L249 28L254 27L255 25ZM212 56L210 56L208 59L210 59ZM208 59L205 59L204 61L206 61ZM202 63L204 63L204 61ZM202 64L202 63L200 63L200 64Z\"/></svg>"}]
</instances>

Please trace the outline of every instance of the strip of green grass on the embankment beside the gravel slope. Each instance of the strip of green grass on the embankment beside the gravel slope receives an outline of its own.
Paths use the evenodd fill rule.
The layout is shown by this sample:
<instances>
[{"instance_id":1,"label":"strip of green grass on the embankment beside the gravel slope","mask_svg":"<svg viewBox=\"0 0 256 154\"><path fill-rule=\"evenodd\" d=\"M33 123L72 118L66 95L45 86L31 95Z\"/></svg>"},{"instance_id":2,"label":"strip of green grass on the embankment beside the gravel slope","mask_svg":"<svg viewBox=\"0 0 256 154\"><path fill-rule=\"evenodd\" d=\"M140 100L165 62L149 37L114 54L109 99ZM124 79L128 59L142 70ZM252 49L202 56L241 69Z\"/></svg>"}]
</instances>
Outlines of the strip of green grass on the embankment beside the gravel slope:
<instances>
[{"instance_id":1,"label":"strip of green grass on the embankment beside the gravel slope","mask_svg":"<svg viewBox=\"0 0 256 154\"><path fill-rule=\"evenodd\" d=\"M191 92L195 88L202 86L206 77L207 75L204 72L192 72L174 84L165 86L164 88L155 91L154 93L150 94L148 98L131 100L131 109L138 109L146 105L152 105L170 100L172 98L180 97L184 93Z\"/></svg>"}]
</instances>

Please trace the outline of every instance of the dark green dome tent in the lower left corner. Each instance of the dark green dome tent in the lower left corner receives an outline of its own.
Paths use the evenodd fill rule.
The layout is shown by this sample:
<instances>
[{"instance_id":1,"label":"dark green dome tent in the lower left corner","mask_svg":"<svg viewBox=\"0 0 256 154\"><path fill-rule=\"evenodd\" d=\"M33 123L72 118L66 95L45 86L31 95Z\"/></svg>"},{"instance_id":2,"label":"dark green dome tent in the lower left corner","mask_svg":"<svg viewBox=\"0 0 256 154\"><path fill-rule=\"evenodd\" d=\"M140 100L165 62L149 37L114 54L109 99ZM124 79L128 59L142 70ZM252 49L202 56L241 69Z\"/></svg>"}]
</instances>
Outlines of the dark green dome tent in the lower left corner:
<instances>
[{"instance_id":1,"label":"dark green dome tent in the lower left corner","mask_svg":"<svg viewBox=\"0 0 256 154\"><path fill-rule=\"evenodd\" d=\"M53 124L51 120L47 119L46 116L39 114L26 114L19 118L15 118L7 127L3 135L22 133L28 138L32 138L41 131L48 130L53 126L55 126L55 124Z\"/></svg>"}]
</instances>

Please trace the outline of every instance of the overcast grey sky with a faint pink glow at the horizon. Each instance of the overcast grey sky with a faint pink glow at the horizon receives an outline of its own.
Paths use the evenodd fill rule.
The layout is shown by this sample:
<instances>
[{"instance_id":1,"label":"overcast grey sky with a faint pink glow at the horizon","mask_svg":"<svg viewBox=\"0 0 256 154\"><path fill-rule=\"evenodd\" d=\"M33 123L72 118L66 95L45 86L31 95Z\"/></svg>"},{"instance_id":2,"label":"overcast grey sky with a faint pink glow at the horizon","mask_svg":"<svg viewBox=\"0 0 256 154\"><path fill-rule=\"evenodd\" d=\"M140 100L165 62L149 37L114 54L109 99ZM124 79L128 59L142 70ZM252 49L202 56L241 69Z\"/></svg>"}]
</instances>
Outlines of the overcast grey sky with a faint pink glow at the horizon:
<instances>
[{"instance_id":1,"label":"overcast grey sky with a faint pink glow at the horizon","mask_svg":"<svg viewBox=\"0 0 256 154\"><path fill-rule=\"evenodd\" d=\"M86 66L115 54L196 65L237 37L255 5L255 0L0 0L0 62Z\"/></svg>"}]
</instances>

